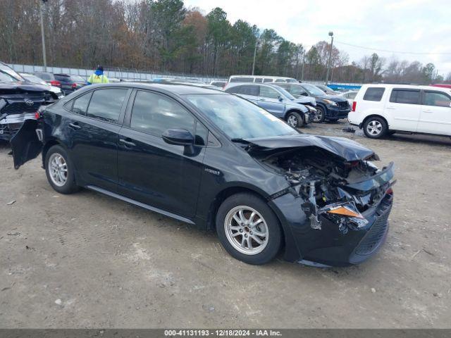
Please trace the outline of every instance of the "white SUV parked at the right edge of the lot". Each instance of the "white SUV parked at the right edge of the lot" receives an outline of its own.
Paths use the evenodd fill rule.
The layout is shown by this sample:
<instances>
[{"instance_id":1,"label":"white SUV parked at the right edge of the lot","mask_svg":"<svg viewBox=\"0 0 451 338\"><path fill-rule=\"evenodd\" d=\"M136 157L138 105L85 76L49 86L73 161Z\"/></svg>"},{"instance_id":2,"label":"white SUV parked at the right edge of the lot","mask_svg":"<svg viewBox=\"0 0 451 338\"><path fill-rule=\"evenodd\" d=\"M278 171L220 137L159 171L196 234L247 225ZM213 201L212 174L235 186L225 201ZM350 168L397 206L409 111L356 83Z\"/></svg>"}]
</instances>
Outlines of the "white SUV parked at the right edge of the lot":
<instances>
[{"instance_id":1,"label":"white SUV parked at the right edge of the lot","mask_svg":"<svg viewBox=\"0 0 451 338\"><path fill-rule=\"evenodd\" d=\"M451 136L451 89L364 84L347 119L372 139L395 132Z\"/></svg>"}]
</instances>

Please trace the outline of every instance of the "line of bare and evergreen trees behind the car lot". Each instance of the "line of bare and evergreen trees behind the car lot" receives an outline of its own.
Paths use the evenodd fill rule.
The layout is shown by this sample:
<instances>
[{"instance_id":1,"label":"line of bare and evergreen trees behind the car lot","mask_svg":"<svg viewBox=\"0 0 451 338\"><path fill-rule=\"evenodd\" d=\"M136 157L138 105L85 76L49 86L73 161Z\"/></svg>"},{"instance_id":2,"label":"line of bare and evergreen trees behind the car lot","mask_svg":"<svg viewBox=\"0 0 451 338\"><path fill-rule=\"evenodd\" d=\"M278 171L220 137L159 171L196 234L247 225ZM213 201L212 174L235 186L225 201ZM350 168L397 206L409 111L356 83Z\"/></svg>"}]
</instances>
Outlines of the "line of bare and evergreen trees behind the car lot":
<instances>
[{"instance_id":1,"label":"line of bare and evergreen trees behind the car lot","mask_svg":"<svg viewBox=\"0 0 451 338\"><path fill-rule=\"evenodd\" d=\"M323 80L330 44L308 50L227 13L203 13L182 0L0 0L0 60L42 64L43 6L48 65L125 68L228 77L280 75ZM255 64L254 64L255 56ZM433 63L387 60L371 54L350 62L333 46L330 77L336 82L451 82Z\"/></svg>"}]
</instances>

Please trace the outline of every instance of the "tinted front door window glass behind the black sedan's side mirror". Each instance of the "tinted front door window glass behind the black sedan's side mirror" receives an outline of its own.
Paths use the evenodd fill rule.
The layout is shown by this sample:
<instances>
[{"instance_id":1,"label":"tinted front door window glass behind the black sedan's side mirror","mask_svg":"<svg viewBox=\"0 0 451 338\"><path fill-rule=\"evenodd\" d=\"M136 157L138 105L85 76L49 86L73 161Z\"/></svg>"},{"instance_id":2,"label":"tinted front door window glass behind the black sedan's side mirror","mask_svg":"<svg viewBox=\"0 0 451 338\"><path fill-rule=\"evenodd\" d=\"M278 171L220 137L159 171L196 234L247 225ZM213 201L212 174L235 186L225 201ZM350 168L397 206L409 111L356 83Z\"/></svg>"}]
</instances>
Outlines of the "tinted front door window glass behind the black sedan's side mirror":
<instances>
[{"instance_id":1,"label":"tinted front door window glass behind the black sedan's side mirror","mask_svg":"<svg viewBox=\"0 0 451 338\"><path fill-rule=\"evenodd\" d=\"M151 92L137 92L130 127L161 137L168 129L184 129L194 135L194 118L173 99Z\"/></svg>"}]
</instances>

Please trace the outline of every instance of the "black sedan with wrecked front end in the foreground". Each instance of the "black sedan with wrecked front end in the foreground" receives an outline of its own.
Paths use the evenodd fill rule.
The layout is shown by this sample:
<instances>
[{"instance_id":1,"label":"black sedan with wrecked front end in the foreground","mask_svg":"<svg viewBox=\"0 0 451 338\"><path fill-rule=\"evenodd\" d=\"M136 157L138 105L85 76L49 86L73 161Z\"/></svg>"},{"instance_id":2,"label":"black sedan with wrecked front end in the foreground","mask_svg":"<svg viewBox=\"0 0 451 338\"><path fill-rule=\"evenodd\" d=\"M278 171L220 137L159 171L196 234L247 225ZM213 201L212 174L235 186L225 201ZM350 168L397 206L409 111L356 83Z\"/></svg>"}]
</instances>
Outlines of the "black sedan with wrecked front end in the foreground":
<instances>
[{"instance_id":1,"label":"black sedan with wrecked front end in the foreground","mask_svg":"<svg viewBox=\"0 0 451 338\"><path fill-rule=\"evenodd\" d=\"M95 84L26 121L15 168L42 151L49 184L116 197L204 230L251 264L350 265L388 232L393 165L301 134L235 95L179 84Z\"/></svg>"}]
</instances>

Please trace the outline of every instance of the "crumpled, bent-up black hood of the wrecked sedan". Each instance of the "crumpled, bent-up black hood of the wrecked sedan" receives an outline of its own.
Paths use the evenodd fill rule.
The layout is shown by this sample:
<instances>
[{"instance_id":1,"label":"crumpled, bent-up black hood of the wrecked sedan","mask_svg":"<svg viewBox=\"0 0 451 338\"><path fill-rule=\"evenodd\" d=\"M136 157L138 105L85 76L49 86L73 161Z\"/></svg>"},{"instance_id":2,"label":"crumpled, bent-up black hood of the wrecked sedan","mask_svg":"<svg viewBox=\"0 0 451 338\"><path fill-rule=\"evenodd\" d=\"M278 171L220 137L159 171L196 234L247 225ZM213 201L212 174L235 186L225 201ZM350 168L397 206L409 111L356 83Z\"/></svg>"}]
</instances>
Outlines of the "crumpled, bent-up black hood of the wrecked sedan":
<instances>
[{"instance_id":1,"label":"crumpled, bent-up black hood of the wrecked sedan","mask_svg":"<svg viewBox=\"0 0 451 338\"><path fill-rule=\"evenodd\" d=\"M345 161L359 160L378 160L378 156L371 149L362 146L351 139L345 137L316 136L310 134L297 134L278 137L267 137L264 139L245 139L252 144L247 151L252 154L253 151L264 149L290 149L317 147L328 151L334 156L338 156Z\"/></svg>"}]
</instances>

